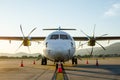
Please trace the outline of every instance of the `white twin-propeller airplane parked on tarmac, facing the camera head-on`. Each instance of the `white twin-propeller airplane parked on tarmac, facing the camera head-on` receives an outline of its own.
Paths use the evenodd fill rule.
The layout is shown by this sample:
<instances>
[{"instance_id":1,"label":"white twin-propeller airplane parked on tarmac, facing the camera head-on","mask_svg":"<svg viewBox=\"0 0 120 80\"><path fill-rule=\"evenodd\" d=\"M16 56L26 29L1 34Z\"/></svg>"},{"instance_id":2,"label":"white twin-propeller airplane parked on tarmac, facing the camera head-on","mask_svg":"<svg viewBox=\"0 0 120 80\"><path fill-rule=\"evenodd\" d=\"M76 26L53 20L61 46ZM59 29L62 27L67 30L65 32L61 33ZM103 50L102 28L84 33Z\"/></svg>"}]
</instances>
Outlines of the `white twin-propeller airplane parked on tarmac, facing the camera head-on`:
<instances>
[{"instance_id":1,"label":"white twin-propeller airplane parked on tarmac, facing the camera head-on","mask_svg":"<svg viewBox=\"0 0 120 80\"><path fill-rule=\"evenodd\" d=\"M21 31L22 31L22 27ZM30 32L30 34L35 28ZM89 41L87 37L72 37L64 30L76 30L76 29L65 29L65 28L51 28L43 30L55 30L50 33L47 37L30 37L27 36L0 36L0 40L20 40L23 41L24 46L30 46L30 41L44 41L41 65L47 65L47 60L53 62L66 62L72 60L72 64L77 64L77 57L75 56L76 45L75 41ZM95 37L95 40L120 40L120 36L107 36L107 37ZM95 44L92 41L91 44Z\"/></svg>"}]
</instances>

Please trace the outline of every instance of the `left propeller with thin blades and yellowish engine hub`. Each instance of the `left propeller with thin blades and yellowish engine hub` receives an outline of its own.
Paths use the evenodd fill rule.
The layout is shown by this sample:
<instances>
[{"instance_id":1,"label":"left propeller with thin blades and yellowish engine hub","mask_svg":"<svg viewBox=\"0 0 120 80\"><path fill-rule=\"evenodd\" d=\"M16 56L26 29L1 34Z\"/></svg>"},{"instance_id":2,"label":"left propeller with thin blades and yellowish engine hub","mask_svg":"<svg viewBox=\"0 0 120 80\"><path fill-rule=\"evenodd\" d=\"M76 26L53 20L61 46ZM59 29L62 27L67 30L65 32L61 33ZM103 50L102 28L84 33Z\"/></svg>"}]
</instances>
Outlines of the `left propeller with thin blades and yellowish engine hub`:
<instances>
[{"instance_id":1,"label":"left propeller with thin blades and yellowish engine hub","mask_svg":"<svg viewBox=\"0 0 120 80\"><path fill-rule=\"evenodd\" d=\"M24 35L24 32L23 32L23 29L22 29L22 26L20 25L20 30L21 30L21 33L22 33L22 36L23 36L23 41L22 41L22 43L20 44L20 46L18 47L18 49L20 49L20 47L23 45L23 46L27 46L28 47L28 51L31 53L31 51L30 51L30 48L29 48L29 46L31 46L31 42L30 42L30 35L32 34L32 32L34 31L36 29L36 27L35 28L33 28L31 31L30 31L30 33L28 34L28 36L25 36ZM17 49L17 50L18 50ZM17 51L16 50L16 51Z\"/></svg>"}]
</instances>

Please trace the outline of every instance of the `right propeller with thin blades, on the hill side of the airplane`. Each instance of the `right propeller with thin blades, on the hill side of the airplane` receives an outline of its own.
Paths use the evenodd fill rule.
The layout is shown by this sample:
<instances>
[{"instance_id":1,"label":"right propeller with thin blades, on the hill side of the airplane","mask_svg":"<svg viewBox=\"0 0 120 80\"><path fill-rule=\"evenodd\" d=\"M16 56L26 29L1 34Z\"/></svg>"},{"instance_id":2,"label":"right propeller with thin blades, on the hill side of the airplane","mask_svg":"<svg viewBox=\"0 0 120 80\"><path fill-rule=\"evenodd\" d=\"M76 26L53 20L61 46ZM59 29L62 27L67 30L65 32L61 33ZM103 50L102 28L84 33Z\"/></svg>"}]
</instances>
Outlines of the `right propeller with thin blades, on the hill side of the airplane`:
<instances>
[{"instance_id":1,"label":"right propeller with thin blades, on the hill side of the airplane","mask_svg":"<svg viewBox=\"0 0 120 80\"><path fill-rule=\"evenodd\" d=\"M92 55L92 53L93 53L93 48L94 48L94 46L96 45L96 44L98 44L103 50L106 50L100 43L98 43L97 42L97 39L99 39L99 38L101 38L101 37L104 37L104 36L106 36L106 35L108 35L108 34L103 34L103 35L101 35L101 36L99 36L99 37L95 37L95 26L96 26L96 24L94 25L94 29L93 29L93 35L92 36L89 36L89 35L87 35L85 32L83 32L82 30L81 30L81 32L84 34L84 35L86 35L86 37L87 37L87 39L88 39L88 46L91 46L92 47L92 49L91 49L91 52L90 52L90 55Z\"/></svg>"}]
</instances>

